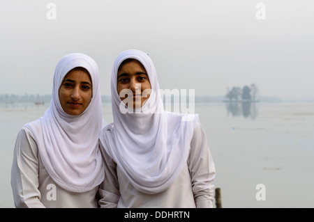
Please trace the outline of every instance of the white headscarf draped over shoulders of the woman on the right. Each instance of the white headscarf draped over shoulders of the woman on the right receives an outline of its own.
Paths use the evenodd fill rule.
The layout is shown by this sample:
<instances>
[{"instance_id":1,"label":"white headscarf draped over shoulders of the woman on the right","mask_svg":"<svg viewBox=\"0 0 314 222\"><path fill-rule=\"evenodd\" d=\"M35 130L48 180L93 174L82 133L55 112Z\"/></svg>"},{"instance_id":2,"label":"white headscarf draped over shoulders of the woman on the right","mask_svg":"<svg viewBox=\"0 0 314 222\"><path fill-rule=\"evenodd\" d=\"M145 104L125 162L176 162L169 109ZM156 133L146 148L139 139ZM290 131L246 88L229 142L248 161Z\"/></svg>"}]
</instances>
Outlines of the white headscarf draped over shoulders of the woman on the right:
<instances>
[{"instance_id":1,"label":"white headscarf draped over shoulders of the woman on the right","mask_svg":"<svg viewBox=\"0 0 314 222\"><path fill-rule=\"evenodd\" d=\"M120 111L122 101L117 93L119 65L127 58L142 63L152 89L140 111L135 112L133 107L130 112ZM114 61L111 93L114 122L103 129L100 142L135 189L164 191L187 164L198 116L164 110L154 63L148 54L136 49L123 51Z\"/></svg>"}]
</instances>

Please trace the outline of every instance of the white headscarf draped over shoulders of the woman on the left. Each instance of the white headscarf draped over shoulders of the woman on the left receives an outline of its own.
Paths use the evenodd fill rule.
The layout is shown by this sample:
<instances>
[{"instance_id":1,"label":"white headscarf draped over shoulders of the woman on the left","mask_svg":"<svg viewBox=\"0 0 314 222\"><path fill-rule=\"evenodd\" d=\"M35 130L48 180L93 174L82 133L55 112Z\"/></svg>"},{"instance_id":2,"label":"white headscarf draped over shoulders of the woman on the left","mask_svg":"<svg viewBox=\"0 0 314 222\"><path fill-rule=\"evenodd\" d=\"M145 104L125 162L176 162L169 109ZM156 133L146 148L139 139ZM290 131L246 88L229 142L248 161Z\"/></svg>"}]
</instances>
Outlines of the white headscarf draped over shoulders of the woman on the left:
<instances>
[{"instance_id":1,"label":"white headscarf draped over shoulders of the woman on the left","mask_svg":"<svg viewBox=\"0 0 314 222\"><path fill-rule=\"evenodd\" d=\"M93 96L83 113L70 116L61 107L59 88L66 74L77 67L89 72ZM102 115L98 65L85 54L63 56L54 72L50 106L40 118L42 129L26 125L35 136L47 172L63 189L84 192L103 181L105 173L98 138L107 123Z\"/></svg>"}]
</instances>

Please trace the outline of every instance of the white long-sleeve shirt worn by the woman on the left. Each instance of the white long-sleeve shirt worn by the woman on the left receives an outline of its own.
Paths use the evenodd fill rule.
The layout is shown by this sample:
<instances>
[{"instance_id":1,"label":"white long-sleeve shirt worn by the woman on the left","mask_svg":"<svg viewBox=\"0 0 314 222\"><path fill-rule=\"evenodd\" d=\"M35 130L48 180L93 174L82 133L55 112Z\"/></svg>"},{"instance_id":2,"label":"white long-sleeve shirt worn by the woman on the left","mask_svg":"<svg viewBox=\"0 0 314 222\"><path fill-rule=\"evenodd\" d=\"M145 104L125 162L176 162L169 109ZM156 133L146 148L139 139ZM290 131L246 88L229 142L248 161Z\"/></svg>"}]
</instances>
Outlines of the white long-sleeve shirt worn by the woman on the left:
<instances>
[{"instance_id":1,"label":"white long-sleeve shirt worn by the woman on the left","mask_svg":"<svg viewBox=\"0 0 314 222\"><path fill-rule=\"evenodd\" d=\"M33 124L40 124L37 120ZM38 154L33 134L22 127L17 134L11 187L15 207L98 207L98 187L84 193L75 193L59 187L47 173Z\"/></svg>"}]
</instances>

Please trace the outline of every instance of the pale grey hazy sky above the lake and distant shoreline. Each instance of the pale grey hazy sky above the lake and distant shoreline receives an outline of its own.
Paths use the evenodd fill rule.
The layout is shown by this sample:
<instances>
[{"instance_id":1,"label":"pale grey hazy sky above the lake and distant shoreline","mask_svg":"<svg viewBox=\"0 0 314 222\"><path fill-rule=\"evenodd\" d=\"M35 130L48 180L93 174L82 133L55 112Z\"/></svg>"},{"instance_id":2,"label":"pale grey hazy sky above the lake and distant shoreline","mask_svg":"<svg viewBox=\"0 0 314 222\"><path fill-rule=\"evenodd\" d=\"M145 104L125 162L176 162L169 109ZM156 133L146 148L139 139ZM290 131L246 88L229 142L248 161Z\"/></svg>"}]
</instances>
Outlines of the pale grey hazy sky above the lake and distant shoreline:
<instances>
[{"instance_id":1,"label":"pale grey hazy sky above the lake and distant shoreline","mask_svg":"<svg viewBox=\"0 0 314 222\"><path fill-rule=\"evenodd\" d=\"M110 95L114 58L140 49L163 89L216 96L256 84L263 96L314 99L313 10L313 0L1 0L0 94L51 94L59 59L82 52Z\"/></svg>"}]
</instances>

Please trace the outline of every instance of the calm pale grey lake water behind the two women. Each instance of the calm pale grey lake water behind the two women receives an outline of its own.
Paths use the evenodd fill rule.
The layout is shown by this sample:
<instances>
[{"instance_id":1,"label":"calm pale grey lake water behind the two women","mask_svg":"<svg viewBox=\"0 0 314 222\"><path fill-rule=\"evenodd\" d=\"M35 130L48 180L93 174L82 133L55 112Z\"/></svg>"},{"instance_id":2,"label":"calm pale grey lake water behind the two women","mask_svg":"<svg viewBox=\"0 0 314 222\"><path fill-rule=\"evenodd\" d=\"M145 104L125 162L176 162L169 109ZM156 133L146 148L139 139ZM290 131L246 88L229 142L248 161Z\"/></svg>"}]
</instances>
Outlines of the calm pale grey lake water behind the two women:
<instances>
[{"instance_id":1,"label":"calm pale grey lake water behind the two women","mask_svg":"<svg viewBox=\"0 0 314 222\"><path fill-rule=\"evenodd\" d=\"M49 104L0 104L0 207L14 207L17 132ZM111 104L103 104L112 122ZM195 104L216 165L222 207L314 207L314 103Z\"/></svg>"}]
</instances>

